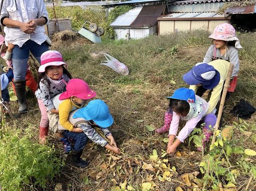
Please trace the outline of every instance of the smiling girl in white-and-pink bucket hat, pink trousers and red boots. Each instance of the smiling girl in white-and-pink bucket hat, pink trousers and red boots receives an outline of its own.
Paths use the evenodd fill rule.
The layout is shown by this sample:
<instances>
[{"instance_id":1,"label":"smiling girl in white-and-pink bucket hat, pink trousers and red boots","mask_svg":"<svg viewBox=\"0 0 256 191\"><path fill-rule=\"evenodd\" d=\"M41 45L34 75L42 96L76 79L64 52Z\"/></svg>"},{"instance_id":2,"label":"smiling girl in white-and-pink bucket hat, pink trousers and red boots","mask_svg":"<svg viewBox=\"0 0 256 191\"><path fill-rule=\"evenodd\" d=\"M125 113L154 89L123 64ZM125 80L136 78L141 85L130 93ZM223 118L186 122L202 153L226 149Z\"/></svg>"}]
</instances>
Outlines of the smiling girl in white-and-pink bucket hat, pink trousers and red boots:
<instances>
[{"instance_id":1,"label":"smiling girl in white-and-pink bucket hat, pink trousers and red boots","mask_svg":"<svg viewBox=\"0 0 256 191\"><path fill-rule=\"evenodd\" d=\"M55 109L51 99L66 91L66 84L72 78L67 64L63 62L61 53L58 51L46 51L41 55L41 66L38 69L38 88L35 93L41 111L39 140L45 143L45 136L48 135L49 119L47 110L52 113L59 113Z\"/></svg>"}]
</instances>

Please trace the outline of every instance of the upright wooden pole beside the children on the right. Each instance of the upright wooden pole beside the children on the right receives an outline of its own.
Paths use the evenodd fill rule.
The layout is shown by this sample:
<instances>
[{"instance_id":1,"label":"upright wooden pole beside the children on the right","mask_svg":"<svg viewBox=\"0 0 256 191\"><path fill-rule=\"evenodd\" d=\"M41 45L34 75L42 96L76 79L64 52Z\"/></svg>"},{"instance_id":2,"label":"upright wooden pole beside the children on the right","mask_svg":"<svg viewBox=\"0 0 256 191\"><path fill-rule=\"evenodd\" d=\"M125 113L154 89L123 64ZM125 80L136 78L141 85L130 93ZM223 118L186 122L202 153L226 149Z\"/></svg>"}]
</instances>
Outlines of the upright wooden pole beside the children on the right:
<instances>
[{"instance_id":1,"label":"upright wooden pole beside the children on the right","mask_svg":"<svg viewBox=\"0 0 256 191\"><path fill-rule=\"evenodd\" d=\"M211 145L213 145L215 143L215 140L216 140L216 134L215 133L219 129L219 122L220 122L220 119L221 119L221 115L222 115L222 111L223 111L226 95L227 95L227 92L228 92L230 78L231 78L231 74L232 74L233 68L234 68L234 64L230 64L229 68L228 68L228 75L227 75L227 78L226 78L226 81L225 81L225 84L224 84L224 88L223 88L223 92L222 92L222 96L221 96L221 100L220 100L219 113L218 113L217 121L216 121L215 126L214 126L214 133L213 133ZM210 157L208 156L207 174L209 174L209 171L210 171L210 161L209 161L209 158Z\"/></svg>"}]
</instances>

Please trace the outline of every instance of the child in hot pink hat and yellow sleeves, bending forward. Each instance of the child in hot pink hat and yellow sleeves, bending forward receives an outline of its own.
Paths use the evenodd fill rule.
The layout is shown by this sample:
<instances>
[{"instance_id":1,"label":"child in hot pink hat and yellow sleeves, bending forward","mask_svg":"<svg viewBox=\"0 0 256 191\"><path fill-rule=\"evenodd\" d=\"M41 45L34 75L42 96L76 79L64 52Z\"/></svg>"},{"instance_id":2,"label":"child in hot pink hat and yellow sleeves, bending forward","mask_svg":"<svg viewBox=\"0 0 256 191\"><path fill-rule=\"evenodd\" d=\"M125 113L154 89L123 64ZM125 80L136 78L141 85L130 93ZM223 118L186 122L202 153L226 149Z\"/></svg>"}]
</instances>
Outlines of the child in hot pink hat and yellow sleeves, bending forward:
<instances>
[{"instance_id":1,"label":"child in hot pink hat and yellow sleeves, bending forward","mask_svg":"<svg viewBox=\"0 0 256 191\"><path fill-rule=\"evenodd\" d=\"M71 79L67 84L66 91L62 94L57 95L53 99L55 109L58 109L59 113L48 112L49 127L56 133L57 137L61 140L64 145L64 152L68 153L71 151L71 144L65 133L58 132L57 125L61 125L63 128L68 129L74 133L83 132L80 128L75 128L69 121L69 113L73 110L82 108L87 104L88 99L96 96L94 90L90 90L87 83L81 79ZM69 137L70 138L70 137Z\"/></svg>"}]
</instances>

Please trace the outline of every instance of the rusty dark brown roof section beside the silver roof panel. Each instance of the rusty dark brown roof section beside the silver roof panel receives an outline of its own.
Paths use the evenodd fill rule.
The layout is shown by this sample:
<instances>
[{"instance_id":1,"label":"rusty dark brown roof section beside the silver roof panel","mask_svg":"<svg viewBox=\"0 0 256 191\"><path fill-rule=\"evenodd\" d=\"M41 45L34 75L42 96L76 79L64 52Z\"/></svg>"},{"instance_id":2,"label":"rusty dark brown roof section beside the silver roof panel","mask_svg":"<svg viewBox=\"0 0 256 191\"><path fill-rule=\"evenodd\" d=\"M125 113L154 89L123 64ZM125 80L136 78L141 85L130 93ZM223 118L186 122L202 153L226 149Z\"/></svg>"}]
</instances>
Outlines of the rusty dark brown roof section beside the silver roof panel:
<instances>
[{"instance_id":1,"label":"rusty dark brown roof section beside the silver roof panel","mask_svg":"<svg viewBox=\"0 0 256 191\"><path fill-rule=\"evenodd\" d=\"M162 15L165 8L166 4L143 6L134 22L130 24L130 27L154 26L157 18Z\"/></svg>"}]
</instances>

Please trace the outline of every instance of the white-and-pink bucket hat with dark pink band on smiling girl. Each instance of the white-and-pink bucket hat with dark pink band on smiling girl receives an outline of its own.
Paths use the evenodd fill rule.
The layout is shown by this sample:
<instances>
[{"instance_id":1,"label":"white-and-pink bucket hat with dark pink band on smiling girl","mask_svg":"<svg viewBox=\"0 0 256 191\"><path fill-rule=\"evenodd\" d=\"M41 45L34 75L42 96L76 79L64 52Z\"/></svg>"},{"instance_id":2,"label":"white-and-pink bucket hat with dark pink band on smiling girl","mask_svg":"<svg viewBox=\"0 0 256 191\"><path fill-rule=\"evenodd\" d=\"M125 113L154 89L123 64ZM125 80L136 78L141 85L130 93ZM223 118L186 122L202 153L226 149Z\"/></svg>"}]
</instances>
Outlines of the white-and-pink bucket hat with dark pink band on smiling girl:
<instances>
[{"instance_id":1,"label":"white-and-pink bucket hat with dark pink band on smiling girl","mask_svg":"<svg viewBox=\"0 0 256 191\"><path fill-rule=\"evenodd\" d=\"M45 72L47 66L61 66L65 65L66 68L68 65L63 62L61 53L58 51L46 51L41 55L41 66L38 69L38 72Z\"/></svg>"}]
</instances>

